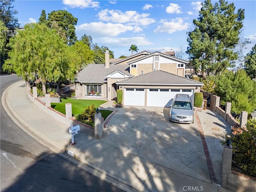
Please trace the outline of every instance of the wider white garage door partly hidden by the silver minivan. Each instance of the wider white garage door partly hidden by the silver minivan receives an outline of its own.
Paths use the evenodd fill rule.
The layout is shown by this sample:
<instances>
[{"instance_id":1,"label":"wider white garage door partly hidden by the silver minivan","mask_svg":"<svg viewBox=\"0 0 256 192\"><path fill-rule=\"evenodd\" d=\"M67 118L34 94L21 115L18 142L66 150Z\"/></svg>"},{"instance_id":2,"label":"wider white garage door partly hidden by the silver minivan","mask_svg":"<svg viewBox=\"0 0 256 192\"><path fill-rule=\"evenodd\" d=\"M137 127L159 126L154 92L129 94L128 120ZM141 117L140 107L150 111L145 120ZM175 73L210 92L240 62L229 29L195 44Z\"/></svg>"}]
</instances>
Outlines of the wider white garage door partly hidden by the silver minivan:
<instances>
[{"instance_id":1,"label":"wider white garage door partly hidden by the silver minivan","mask_svg":"<svg viewBox=\"0 0 256 192\"><path fill-rule=\"evenodd\" d=\"M188 94L194 100L192 89L148 89L147 106L169 107L176 94Z\"/></svg>"}]
</instances>

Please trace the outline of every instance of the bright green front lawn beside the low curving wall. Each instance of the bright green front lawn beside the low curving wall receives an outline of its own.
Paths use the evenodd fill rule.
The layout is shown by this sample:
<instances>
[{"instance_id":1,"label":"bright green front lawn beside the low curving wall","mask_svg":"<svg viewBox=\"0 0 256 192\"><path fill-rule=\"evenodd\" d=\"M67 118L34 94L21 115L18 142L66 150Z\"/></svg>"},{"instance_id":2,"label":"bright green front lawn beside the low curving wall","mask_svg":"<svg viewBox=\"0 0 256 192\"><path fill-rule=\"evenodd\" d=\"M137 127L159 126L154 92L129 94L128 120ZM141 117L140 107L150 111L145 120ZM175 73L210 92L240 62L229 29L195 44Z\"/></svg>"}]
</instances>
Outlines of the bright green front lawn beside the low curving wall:
<instances>
[{"instance_id":1,"label":"bright green front lawn beside the low curving wall","mask_svg":"<svg viewBox=\"0 0 256 192\"><path fill-rule=\"evenodd\" d=\"M60 103L51 103L51 107L61 112L62 114L66 114L65 104L72 104L72 116L78 115L84 111L84 109L90 105L95 105L95 107L99 107L100 105L106 103L103 100L83 100L83 99L73 99L73 98L60 98ZM109 110L100 110L100 113L104 119L106 119L112 111Z\"/></svg>"}]
</instances>

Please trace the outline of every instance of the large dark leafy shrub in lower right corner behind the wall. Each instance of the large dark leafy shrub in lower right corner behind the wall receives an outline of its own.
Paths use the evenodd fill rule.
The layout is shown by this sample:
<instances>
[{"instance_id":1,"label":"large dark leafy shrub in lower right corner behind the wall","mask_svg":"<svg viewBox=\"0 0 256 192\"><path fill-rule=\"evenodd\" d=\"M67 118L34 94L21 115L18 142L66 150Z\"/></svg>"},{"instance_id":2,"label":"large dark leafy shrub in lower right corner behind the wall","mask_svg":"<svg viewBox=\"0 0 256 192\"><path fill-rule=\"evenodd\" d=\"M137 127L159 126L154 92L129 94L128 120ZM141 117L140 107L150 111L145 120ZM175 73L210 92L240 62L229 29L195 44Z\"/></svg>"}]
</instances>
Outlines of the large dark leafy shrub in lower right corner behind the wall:
<instances>
[{"instance_id":1,"label":"large dark leafy shrub in lower right corner behind the wall","mask_svg":"<svg viewBox=\"0 0 256 192\"><path fill-rule=\"evenodd\" d=\"M229 136L226 134L226 139ZM256 120L248 120L246 127L233 126L230 141L233 147L233 160L240 168L256 176Z\"/></svg>"}]
</instances>

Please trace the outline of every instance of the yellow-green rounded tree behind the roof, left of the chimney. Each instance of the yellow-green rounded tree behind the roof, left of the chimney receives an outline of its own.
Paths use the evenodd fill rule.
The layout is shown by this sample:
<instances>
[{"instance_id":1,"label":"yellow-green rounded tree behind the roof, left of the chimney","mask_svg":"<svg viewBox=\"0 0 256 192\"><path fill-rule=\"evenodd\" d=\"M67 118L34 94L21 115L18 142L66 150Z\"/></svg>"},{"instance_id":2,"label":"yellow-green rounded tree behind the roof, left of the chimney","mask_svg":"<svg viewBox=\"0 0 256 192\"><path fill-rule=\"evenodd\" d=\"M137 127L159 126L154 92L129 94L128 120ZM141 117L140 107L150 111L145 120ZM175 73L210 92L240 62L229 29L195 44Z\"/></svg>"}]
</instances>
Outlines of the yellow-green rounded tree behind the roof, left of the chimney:
<instances>
[{"instance_id":1,"label":"yellow-green rounded tree behind the roof, left of the chimney","mask_svg":"<svg viewBox=\"0 0 256 192\"><path fill-rule=\"evenodd\" d=\"M74 54L72 58L75 60L77 70L80 71L87 64L93 62L94 51L90 50L90 47L84 44L82 40L76 41L74 45L71 45L70 50Z\"/></svg>"}]
</instances>

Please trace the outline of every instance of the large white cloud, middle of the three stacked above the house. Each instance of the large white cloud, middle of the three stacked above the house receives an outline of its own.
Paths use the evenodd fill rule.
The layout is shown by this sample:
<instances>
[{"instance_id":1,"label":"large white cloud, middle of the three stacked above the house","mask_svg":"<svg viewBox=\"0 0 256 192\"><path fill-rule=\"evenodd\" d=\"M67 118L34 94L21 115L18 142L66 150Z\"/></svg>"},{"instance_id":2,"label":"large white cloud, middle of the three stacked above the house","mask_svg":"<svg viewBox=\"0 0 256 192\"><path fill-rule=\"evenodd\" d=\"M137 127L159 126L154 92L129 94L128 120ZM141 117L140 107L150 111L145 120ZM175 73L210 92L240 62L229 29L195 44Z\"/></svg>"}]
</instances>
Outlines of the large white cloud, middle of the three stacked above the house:
<instances>
[{"instance_id":1,"label":"large white cloud, middle of the three stacked above the house","mask_svg":"<svg viewBox=\"0 0 256 192\"><path fill-rule=\"evenodd\" d=\"M127 31L140 32L140 27L128 26L123 24L92 22L84 23L76 26L76 31L83 32L84 34L91 34L93 38L98 37L114 37Z\"/></svg>"}]
</instances>

